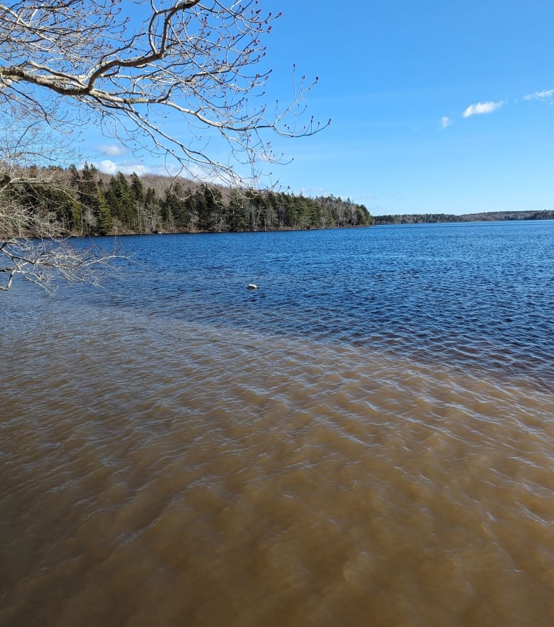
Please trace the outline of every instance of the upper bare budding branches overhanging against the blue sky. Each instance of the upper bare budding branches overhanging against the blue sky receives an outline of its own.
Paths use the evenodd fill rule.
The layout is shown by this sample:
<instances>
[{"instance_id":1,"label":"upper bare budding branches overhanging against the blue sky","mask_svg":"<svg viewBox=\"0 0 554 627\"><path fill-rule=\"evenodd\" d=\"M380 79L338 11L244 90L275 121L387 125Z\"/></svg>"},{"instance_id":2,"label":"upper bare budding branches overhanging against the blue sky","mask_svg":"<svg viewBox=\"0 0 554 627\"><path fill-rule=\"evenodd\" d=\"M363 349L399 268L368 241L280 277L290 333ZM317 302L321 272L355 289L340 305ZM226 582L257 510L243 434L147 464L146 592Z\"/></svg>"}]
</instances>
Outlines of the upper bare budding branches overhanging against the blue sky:
<instances>
[{"instance_id":1,"label":"upper bare budding branches overhanging against the blue sky","mask_svg":"<svg viewBox=\"0 0 554 627\"><path fill-rule=\"evenodd\" d=\"M284 109L256 98L271 73L261 68L261 38L276 17L257 0L0 4L0 98L57 128L94 119L132 149L170 154L195 173L200 166L237 183L234 166L249 164L256 178L276 159L266 131L320 129L313 119L290 124L304 112L304 77ZM227 142L228 160L211 156L214 135Z\"/></svg>"}]
</instances>

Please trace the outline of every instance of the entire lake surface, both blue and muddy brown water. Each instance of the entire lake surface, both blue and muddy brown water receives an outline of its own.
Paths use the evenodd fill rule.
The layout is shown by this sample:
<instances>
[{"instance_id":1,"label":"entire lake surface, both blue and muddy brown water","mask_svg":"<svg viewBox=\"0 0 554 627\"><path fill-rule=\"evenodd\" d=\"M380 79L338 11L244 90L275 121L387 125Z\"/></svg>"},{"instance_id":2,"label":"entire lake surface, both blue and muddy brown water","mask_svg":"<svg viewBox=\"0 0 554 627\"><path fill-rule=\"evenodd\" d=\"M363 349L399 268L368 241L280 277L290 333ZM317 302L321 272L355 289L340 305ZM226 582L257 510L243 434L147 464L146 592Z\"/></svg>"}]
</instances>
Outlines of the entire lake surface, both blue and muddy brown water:
<instances>
[{"instance_id":1,"label":"entire lake surface, both blue and muddy brown water","mask_svg":"<svg viewBox=\"0 0 554 627\"><path fill-rule=\"evenodd\" d=\"M0 294L2 626L554 624L553 221L119 245Z\"/></svg>"}]
</instances>

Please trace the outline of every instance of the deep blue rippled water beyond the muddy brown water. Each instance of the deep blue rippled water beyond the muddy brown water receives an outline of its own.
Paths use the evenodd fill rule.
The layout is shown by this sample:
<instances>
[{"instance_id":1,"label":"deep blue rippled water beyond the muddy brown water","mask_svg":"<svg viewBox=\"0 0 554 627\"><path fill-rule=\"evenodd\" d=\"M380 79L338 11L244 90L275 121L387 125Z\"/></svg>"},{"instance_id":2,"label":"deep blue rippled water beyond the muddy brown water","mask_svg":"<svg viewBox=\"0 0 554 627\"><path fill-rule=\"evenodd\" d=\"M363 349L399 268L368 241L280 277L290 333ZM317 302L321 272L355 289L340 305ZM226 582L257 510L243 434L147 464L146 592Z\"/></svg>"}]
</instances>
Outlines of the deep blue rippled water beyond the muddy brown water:
<instances>
[{"instance_id":1,"label":"deep blue rippled water beyond the muddy brown water","mask_svg":"<svg viewBox=\"0 0 554 627\"><path fill-rule=\"evenodd\" d=\"M554 385L551 220L151 235L119 247L132 262L118 277L68 296Z\"/></svg>"}]
</instances>

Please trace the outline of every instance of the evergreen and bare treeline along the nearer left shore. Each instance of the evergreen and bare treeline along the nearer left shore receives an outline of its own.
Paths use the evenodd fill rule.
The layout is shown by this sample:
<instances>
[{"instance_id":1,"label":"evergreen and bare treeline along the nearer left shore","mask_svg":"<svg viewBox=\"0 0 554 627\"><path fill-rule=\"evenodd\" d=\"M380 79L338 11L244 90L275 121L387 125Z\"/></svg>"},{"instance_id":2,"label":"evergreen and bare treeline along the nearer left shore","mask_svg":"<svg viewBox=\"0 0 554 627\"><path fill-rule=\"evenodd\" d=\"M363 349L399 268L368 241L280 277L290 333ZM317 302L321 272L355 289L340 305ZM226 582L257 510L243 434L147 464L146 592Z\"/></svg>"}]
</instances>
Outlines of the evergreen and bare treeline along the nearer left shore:
<instances>
[{"instance_id":1,"label":"evergreen and bare treeline along the nearer left shore","mask_svg":"<svg viewBox=\"0 0 554 627\"><path fill-rule=\"evenodd\" d=\"M48 168L13 186L26 209L79 235L295 230L371 225L364 205L335 196L232 190L186 179Z\"/></svg>"}]
</instances>

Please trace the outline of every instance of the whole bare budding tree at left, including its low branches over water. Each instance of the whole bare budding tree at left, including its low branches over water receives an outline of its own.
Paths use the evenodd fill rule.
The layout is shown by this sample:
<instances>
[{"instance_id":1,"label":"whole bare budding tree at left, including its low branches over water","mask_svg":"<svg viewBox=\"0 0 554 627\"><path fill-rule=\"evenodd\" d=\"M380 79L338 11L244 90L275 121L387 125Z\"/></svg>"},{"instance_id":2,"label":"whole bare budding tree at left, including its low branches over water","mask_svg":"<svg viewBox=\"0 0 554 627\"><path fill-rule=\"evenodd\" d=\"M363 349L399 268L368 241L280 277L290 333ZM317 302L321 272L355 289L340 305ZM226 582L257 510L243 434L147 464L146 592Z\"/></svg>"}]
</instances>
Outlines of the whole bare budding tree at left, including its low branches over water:
<instances>
[{"instance_id":1,"label":"whole bare budding tree at left, including its low branches over water","mask_svg":"<svg viewBox=\"0 0 554 627\"><path fill-rule=\"evenodd\" d=\"M61 145L60 134L74 141L78 129L93 122L134 151L180 164L182 172L251 186L264 164L279 160L267 132L290 137L320 130L313 119L295 124L317 78L293 81L285 107L264 100L271 70L263 67L262 38L277 17L262 14L257 0L0 4L0 122L6 134L0 144L0 252L9 259L0 270L8 273L7 286L15 274L48 285L47 275L56 273L94 280L96 262L106 260L75 252L63 242L63 225L33 213L14 193L32 178L34 164L55 162L52 146ZM45 128L58 134L54 143L41 144ZM220 140L227 145L224 159L214 149ZM40 245L29 242L34 236L43 238Z\"/></svg>"}]
</instances>

